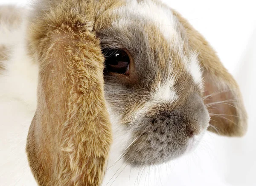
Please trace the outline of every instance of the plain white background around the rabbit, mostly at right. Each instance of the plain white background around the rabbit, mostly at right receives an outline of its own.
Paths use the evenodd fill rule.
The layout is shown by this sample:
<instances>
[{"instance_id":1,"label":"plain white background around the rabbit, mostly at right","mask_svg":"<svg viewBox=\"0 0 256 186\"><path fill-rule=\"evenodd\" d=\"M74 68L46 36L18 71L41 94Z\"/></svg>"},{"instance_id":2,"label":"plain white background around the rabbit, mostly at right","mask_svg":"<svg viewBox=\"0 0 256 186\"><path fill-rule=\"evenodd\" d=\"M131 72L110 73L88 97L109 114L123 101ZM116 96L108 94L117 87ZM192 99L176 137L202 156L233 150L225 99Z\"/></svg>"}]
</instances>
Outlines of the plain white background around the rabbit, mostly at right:
<instances>
[{"instance_id":1,"label":"plain white background around the rabbit, mostly at right","mask_svg":"<svg viewBox=\"0 0 256 186\"><path fill-rule=\"evenodd\" d=\"M190 186L201 186L207 180L212 185L210 183L219 179L223 180L224 185L256 186L255 0L164 1L188 19L215 48L224 66L239 82L249 115L248 132L243 138L208 134L210 140L207 138L203 144L209 157L205 155L205 150L197 150L197 166L202 171L189 168L191 176L195 176L195 182L190 183ZM26 2L28 0L0 0L0 4L25 5ZM205 175L202 172L206 172Z\"/></svg>"}]
</instances>

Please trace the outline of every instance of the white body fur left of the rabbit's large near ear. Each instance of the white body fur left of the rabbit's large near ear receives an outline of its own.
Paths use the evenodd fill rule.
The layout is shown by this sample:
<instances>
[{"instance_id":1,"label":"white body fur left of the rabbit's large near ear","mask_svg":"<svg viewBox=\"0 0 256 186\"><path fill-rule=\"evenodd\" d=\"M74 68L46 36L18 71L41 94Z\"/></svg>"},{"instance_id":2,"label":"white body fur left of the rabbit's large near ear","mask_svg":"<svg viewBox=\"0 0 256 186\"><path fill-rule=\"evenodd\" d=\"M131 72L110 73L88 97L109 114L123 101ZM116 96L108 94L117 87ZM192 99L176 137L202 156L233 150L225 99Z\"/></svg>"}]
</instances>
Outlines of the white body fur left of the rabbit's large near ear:
<instances>
[{"instance_id":1,"label":"white body fur left of the rabbit's large near ear","mask_svg":"<svg viewBox=\"0 0 256 186\"><path fill-rule=\"evenodd\" d=\"M0 25L0 45L12 48L0 74L0 185L32 186L35 179L26 158L26 136L36 108L38 68L26 55L26 23L12 30ZM14 54L14 55L13 55Z\"/></svg>"}]
</instances>

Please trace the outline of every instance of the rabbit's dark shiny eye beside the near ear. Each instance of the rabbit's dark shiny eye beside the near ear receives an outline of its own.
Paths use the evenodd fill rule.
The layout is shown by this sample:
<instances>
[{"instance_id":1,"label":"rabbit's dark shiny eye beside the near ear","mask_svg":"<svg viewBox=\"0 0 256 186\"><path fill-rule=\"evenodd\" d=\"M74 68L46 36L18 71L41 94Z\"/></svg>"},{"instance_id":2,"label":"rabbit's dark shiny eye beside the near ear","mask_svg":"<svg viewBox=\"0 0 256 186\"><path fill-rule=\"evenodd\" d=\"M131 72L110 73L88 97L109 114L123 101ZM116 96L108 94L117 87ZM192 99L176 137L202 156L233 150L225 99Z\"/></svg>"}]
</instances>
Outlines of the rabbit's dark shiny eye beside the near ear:
<instances>
[{"instance_id":1,"label":"rabbit's dark shiny eye beside the near ear","mask_svg":"<svg viewBox=\"0 0 256 186\"><path fill-rule=\"evenodd\" d=\"M104 49L105 71L129 74L130 59L128 54L123 50Z\"/></svg>"}]
</instances>

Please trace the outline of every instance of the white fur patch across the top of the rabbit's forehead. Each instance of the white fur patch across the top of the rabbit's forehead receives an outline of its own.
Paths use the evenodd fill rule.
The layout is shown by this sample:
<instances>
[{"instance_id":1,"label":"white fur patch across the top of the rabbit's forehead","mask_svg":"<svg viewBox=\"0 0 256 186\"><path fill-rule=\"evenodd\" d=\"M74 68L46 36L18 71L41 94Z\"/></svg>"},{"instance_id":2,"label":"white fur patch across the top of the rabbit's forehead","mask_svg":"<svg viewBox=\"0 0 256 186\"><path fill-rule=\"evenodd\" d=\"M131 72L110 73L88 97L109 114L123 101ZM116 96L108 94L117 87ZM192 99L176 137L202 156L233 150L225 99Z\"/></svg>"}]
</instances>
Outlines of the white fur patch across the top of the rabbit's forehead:
<instances>
[{"instance_id":1,"label":"white fur patch across the top of the rabbit's forehead","mask_svg":"<svg viewBox=\"0 0 256 186\"><path fill-rule=\"evenodd\" d=\"M137 0L127 0L127 5L117 9L120 15L125 16L119 24L131 22L133 18L140 17L143 21L150 20L160 32L166 38L171 40L173 37L177 37L177 31L175 29L176 19L172 14L172 11L165 6L157 5L151 0L145 0L137 2ZM134 23L131 23L134 24Z\"/></svg>"}]
</instances>

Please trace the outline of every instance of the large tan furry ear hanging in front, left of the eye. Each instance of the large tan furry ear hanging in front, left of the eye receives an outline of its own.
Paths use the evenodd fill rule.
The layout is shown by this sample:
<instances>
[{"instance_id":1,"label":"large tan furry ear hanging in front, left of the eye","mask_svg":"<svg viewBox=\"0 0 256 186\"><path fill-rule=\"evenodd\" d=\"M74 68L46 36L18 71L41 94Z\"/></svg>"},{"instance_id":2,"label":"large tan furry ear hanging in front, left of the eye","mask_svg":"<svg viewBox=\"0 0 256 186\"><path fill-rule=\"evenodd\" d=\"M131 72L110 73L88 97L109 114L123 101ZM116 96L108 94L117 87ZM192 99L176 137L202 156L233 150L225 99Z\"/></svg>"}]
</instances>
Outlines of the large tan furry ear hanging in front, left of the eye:
<instances>
[{"instance_id":1,"label":"large tan furry ear hanging in front, left of the eye","mask_svg":"<svg viewBox=\"0 0 256 186\"><path fill-rule=\"evenodd\" d=\"M39 185L99 186L112 141L94 4L44 0L29 23L39 66L38 105L26 152Z\"/></svg>"}]
</instances>

